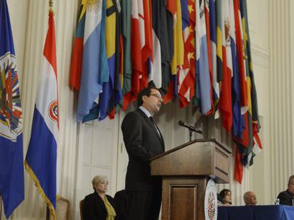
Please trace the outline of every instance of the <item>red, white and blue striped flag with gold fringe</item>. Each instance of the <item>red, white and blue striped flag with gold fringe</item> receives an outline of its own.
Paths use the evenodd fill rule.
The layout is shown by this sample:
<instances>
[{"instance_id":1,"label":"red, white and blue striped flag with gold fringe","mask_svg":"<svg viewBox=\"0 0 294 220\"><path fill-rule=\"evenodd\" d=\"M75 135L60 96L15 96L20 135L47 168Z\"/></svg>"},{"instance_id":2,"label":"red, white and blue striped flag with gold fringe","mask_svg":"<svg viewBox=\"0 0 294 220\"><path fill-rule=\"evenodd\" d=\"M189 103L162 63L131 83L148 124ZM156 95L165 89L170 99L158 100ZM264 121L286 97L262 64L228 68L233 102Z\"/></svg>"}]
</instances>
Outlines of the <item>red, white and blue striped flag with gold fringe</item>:
<instances>
[{"instance_id":1,"label":"red, white and blue striped flag with gold fringe","mask_svg":"<svg viewBox=\"0 0 294 220\"><path fill-rule=\"evenodd\" d=\"M56 219L56 151L59 135L57 79L55 25L53 11L50 11L25 167L54 219Z\"/></svg>"}]
</instances>

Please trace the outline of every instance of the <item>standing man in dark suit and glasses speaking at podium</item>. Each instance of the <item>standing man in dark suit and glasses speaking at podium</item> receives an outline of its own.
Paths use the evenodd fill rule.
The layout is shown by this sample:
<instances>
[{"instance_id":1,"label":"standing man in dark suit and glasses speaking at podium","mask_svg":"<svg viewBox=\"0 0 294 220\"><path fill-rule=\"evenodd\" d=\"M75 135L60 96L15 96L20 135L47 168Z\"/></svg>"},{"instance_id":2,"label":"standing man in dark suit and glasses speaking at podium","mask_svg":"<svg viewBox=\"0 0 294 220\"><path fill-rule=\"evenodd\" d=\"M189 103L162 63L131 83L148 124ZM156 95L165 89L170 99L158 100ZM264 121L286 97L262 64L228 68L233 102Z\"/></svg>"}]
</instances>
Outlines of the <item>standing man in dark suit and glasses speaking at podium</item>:
<instances>
[{"instance_id":1,"label":"standing man in dark suit and glasses speaking at podium","mask_svg":"<svg viewBox=\"0 0 294 220\"><path fill-rule=\"evenodd\" d=\"M138 108L124 117L121 130L129 154L126 172L128 220L158 220L161 178L151 176L150 158L164 152L163 137L153 120L163 103L157 88L138 93Z\"/></svg>"}]
</instances>

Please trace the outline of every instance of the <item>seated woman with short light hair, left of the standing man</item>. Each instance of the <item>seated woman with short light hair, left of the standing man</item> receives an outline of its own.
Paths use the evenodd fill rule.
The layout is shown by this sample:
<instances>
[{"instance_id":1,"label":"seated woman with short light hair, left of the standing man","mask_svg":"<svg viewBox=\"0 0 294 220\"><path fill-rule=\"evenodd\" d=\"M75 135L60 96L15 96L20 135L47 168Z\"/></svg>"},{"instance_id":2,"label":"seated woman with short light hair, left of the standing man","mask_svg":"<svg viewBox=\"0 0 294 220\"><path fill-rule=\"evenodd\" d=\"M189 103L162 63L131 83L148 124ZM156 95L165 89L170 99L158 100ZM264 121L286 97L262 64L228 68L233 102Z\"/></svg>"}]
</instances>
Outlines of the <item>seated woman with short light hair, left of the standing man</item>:
<instances>
[{"instance_id":1,"label":"seated woman with short light hair, left of the standing man","mask_svg":"<svg viewBox=\"0 0 294 220\"><path fill-rule=\"evenodd\" d=\"M106 195L108 180L106 176L97 175L92 180L94 192L84 200L83 220L114 220L116 205L114 199Z\"/></svg>"}]
</instances>

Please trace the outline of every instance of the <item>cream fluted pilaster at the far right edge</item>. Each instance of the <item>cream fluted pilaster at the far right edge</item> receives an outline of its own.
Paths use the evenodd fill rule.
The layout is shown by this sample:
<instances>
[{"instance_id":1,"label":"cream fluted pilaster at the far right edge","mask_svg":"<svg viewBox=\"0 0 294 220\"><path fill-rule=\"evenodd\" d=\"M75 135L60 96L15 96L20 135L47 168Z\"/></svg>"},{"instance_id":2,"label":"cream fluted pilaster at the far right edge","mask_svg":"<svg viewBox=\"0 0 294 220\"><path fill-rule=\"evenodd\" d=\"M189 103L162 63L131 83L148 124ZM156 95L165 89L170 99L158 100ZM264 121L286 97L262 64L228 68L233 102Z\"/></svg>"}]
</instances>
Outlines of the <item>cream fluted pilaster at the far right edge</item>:
<instances>
[{"instance_id":1,"label":"cream fluted pilaster at the far right edge","mask_svg":"<svg viewBox=\"0 0 294 220\"><path fill-rule=\"evenodd\" d=\"M293 1L270 1L271 193L285 190L293 175Z\"/></svg>"}]
</instances>

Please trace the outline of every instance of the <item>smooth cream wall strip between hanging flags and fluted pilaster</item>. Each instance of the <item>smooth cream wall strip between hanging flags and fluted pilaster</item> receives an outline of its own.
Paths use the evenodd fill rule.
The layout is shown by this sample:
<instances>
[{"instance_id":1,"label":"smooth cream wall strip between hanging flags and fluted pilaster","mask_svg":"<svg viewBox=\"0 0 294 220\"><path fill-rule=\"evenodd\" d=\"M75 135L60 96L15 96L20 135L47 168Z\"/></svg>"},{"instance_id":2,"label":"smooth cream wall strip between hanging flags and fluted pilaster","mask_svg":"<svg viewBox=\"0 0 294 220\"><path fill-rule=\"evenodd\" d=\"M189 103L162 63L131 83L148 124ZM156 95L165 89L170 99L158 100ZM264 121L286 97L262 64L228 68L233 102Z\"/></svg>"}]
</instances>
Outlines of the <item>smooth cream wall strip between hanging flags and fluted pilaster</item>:
<instances>
[{"instance_id":1,"label":"smooth cream wall strip between hanging flags and fluted pilaster","mask_svg":"<svg viewBox=\"0 0 294 220\"><path fill-rule=\"evenodd\" d=\"M258 113L261 121L260 137L263 144L261 151L254 160L251 168L251 180L247 190L256 192L258 204L271 204L272 195L270 184L270 48L269 48L269 14L268 1L248 1L249 31L251 37L251 52L253 59L254 77L258 94Z\"/></svg>"}]
</instances>

